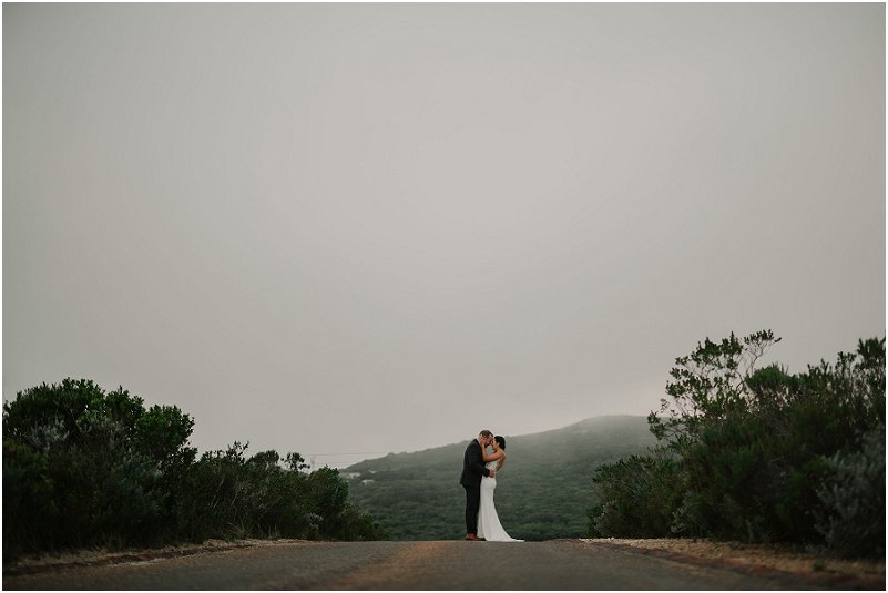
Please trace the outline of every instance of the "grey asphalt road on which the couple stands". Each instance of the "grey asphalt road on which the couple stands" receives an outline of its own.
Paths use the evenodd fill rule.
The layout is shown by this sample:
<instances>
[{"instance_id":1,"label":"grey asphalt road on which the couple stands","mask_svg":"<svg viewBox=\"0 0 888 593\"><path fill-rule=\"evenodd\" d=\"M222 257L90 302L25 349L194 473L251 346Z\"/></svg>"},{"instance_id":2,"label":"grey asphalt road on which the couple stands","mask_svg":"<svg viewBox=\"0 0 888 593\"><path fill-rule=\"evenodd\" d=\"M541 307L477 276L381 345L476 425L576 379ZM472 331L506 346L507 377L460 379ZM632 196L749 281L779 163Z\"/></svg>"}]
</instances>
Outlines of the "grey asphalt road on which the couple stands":
<instances>
[{"instance_id":1,"label":"grey asphalt road on which the couple stands","mask_svg":"<svg viewBox=\"0 0 888 593\"><path fill-rule=\"evenodd\" d=\"M7 590L813 589L576 540L528 543L286 542L3 575Z\"/></svg>"}]
</instances>

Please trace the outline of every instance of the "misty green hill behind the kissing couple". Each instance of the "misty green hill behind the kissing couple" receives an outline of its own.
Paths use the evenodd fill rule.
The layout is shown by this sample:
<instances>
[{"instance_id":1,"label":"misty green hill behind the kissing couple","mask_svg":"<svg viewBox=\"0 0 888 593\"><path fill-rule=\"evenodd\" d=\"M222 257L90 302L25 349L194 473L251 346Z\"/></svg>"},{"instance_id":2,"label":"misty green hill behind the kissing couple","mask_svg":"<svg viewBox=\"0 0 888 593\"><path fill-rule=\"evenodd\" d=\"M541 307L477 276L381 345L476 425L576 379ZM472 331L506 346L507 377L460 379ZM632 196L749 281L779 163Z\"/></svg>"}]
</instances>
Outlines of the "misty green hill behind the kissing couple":
<instances>
[{"instance_id":1,"label":"misty green hill behind the kissing couple","mask_svg":"<svg viewBox=\"0 0 888 593\"><path fill-rule=\"evenodd\" d=\"M508 462L497 477L497 512L509 534L523 540L582 536L595 468L655 442L641 416L603 416L504 437ZM459 476L468 442L346 468L349 495L385 523L394 540L462 538L466 494Z\"/></svg>"}]
</instances>

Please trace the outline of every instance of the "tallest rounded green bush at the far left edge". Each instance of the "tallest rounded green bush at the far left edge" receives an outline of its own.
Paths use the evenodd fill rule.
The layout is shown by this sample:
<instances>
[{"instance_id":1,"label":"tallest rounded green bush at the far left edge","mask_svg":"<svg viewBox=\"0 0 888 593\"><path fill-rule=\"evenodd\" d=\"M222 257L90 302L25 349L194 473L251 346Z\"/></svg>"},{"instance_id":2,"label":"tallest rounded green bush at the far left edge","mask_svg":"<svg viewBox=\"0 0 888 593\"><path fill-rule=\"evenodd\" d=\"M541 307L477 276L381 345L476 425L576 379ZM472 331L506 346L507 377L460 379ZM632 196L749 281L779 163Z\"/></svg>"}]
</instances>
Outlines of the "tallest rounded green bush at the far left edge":
<instances>
[{"instance_id":1,"label":"tallest rounded green bush at the far left edge","mask_svg":"<svg viewBox=\"0 0 888 593\"><path fill-rule=\"evenodd\" d=\"M3 554L157 541L170 493L155 454L139 446L142 400L65 379L3 405ZM165 410L187 423L175 408ZM25 494L30 493L30 494Z\"/></svg>"}]
</instances>

